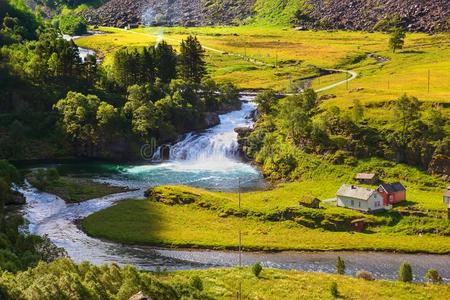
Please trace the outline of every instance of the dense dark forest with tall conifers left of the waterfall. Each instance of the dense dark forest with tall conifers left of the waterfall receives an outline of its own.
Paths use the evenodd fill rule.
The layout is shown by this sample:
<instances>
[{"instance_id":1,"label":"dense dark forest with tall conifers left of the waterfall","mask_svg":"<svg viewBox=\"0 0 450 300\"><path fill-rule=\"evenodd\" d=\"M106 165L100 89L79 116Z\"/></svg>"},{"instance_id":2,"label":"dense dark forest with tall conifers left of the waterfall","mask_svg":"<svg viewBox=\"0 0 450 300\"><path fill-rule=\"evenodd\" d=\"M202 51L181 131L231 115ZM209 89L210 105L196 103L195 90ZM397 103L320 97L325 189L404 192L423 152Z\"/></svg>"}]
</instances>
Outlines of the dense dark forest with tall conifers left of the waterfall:
<instances>
[{"instance_id":1,"label":"dense dark forest with tall conifers left of the waterfall","mask_svg":"<svg viewBox=\"0 0 450 300\"><path fill-rule=\"evenodd\" d=\"M206 112L240 105L233 84L208 78L193 36L180 53L164 41L123 49L106 69L95 56L82 60L54 24L8 3L0 39L2 158L136 156L140 143L171 141L209 126Z\"/></svg>"}]
</instances>

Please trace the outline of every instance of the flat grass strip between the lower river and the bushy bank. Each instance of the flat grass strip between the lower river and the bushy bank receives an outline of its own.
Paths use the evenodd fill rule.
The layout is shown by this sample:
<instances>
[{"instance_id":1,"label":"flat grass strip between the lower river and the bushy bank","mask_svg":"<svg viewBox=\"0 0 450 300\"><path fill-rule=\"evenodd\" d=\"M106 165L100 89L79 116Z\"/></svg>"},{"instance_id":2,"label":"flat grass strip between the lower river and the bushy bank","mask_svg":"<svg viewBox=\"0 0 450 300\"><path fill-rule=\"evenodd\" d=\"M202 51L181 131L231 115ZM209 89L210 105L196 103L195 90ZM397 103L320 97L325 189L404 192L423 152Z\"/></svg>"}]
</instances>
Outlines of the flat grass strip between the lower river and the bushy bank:
<instances>
[{"instance_id":1,"label":"flat grass strip between the lower river and the bushy bank","mask_svg":"<svg viewBox=\"0 0 450 300\"><path fill-rule=\"evenodd\" d=\"M128 200L87 217L91 236L126 244L237 249L238 229L245 250L373 250L450 253L448 237L394 233L352 233L310 229L294 221L220 217L192 205L169 206Z\"/></svg>"}]
</instances>

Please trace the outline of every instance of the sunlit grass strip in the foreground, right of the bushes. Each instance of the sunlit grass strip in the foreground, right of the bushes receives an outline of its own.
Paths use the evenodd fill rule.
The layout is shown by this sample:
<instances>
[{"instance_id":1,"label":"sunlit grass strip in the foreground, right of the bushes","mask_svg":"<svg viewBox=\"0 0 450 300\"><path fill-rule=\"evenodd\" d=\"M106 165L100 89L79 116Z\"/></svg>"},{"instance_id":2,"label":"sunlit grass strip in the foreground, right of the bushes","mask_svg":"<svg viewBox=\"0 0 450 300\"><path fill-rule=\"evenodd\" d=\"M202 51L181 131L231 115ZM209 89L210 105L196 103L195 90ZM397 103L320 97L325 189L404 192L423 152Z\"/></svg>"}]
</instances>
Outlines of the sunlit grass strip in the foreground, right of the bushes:
<instances>
[{"instance_id":1,"label":"sunlit grass strip in the foreground, right of the bushes","mask_svg":"<svg viewBox=\"0 0 450 300\"><path fill-rule=\"evenodd\" d=\"M341 299L448 299L449 285L365 281L348 276L263 269L256 278L249 268L180 271L159 275L168 283L189 283L198 276L212 299L332 299L330 286L338 285Z\"/></svg>"}]
</instances>

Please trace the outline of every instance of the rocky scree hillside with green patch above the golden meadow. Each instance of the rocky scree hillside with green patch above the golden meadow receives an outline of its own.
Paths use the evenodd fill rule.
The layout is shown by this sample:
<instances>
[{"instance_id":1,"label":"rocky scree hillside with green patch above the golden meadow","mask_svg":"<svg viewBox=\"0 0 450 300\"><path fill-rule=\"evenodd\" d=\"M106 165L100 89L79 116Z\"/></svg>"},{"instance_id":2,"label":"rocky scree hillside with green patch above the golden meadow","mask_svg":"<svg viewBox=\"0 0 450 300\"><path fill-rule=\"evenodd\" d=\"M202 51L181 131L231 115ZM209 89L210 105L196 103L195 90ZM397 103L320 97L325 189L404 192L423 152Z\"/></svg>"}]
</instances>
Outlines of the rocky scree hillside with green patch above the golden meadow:
<instances>
[{"instance_id":1,"label":"rocky scree hillside with green patch above the golden meadow","mask_svg":"<svg viewBox=\"0 0 450 300\"><path fill-rule=\"evenodd\" d=\"M301 14L296 14L301 11ZM291 16L286 16L286 13ZM296 20L296 15L304 20ZM449 0L111 0L84 12L90 24L230 25L305 23L314 28L372 30L398 17L409 31L450 30ZM282 22L278 22L282 20ZM288 24L285 24L288 25Z\"/></svg>"}]
</instances>

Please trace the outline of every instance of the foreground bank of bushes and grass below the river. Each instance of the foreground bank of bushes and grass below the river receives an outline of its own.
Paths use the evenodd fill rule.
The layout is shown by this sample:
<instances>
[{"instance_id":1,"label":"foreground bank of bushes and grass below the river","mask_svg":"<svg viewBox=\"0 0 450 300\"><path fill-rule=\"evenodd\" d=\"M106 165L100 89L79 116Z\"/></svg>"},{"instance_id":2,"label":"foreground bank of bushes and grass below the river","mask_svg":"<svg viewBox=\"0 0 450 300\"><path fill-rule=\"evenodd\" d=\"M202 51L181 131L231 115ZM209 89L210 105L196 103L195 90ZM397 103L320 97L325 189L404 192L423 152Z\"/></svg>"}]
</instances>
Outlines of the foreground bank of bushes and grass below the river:
<instances>
[{"instance_id":1,"label":"foreground bank of bushes and grass below the river","mask_svg":"<svg viewBox=\"0 0 450 300\"><path fill-rule=\"evenodd\" d=\"M448 285L365 281L320 273L263 269L256 277L249 268L146 273L131 266L76 265L62 259L17 274L0 273L0 297L127 300L142 292L158 300L210 300L230 299L242 290L244 299L327 299L333 282L345 299L445 299L450 295Z\"/></svg>"}]
</instances>

